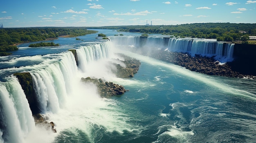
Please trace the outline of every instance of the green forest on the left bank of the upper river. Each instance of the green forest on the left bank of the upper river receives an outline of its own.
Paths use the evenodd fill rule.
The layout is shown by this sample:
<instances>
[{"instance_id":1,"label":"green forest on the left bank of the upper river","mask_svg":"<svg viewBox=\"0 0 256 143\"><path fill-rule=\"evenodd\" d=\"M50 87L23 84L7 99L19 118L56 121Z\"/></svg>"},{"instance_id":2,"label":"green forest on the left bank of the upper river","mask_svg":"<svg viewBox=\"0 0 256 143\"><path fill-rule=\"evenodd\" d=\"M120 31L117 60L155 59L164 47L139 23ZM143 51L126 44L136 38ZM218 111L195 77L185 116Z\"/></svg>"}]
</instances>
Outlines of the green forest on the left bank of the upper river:
<instances>
[{"instance_id":1,"label":"green forest on the left bank of the upper river","mask_svg":"<svg viewBox=\"0 0 256 143\"><path fill-rule=\"evenodd\" d=\"M33 28L1 28L0 52L18 50L15 45L23 42L43 41L69 35L70 37L82 36L97 31L87 30L85 27L33 27ZM5 52L5 53L3 53Z\"/></svg>"}]
</instances>

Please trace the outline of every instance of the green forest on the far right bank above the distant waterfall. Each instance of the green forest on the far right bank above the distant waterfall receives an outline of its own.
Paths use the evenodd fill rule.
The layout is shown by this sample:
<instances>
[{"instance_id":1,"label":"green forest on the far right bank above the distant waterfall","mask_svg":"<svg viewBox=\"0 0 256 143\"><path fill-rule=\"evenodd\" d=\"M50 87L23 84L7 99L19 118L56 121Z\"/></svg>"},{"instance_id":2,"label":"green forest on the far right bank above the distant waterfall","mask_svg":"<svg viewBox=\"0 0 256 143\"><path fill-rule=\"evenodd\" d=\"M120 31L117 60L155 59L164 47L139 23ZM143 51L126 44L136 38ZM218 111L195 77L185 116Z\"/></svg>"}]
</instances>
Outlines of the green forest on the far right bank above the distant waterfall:
<instances>
[{"instance_id":1,"label":"green forest on the far right bank above the distant waterfall","mask_svg":"<svg viewBox=\"0 0 256 143\"><path fill-rule=\"evenodd\" d=\"M174 37L197 37L217 39L218 41L249 40L249 35L256 35L256 24L236 23L194 23L180 25L132 25L87 27L93 29L117 29L126 32L160 33ZM247 37L243 39L242 37ZM241 39L242 38L242 39Z\"/></svg>"}]
</instances>

